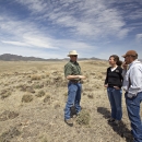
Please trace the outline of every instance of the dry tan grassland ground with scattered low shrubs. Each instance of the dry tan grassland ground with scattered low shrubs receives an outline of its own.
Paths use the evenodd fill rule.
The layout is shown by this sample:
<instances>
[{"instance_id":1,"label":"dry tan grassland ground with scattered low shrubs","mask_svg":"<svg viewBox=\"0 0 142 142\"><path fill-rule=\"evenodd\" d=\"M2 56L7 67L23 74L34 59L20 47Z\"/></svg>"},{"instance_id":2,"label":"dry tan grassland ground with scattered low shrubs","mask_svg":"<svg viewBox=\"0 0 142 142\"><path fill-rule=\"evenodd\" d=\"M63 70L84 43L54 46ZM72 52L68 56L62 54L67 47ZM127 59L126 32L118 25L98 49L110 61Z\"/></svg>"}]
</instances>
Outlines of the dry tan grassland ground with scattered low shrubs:
<instances>
[{"instance_id":1,"label":"dry tan grassland ground with scattered low shrubs","mask_svg":"<svg viewBox=\"0 0 142 142\"><path fill-rule=\"evenodd\" d=\"M0 142L132 142L125 96L121 123L107 122L110 106L104 80L108 63L79 62L86 75L81 106L90 117L74 118L69 127L63 121L67 61L0 61Z\"/></svg>"}]
</instances>

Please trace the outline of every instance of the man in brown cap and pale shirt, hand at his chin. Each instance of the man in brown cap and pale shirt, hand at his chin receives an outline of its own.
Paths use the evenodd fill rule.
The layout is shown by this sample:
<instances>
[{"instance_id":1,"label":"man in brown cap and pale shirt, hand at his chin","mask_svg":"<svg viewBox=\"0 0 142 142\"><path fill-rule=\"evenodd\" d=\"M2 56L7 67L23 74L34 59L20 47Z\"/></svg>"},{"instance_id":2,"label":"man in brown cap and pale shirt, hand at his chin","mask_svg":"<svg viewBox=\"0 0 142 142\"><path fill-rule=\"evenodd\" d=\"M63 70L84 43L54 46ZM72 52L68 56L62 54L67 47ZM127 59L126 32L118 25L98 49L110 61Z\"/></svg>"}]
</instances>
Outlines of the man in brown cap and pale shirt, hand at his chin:
<instances>
[{"instance_id":1,"label":"man in brown cap and pale shirt, hand at his chin","mask_svg":"<svg viewBox=\"0 0 142 142\"><path fill-rule=\"evenodd\" d=\"M133 142L142 142L142 122L140 117L140 103L142 102L142 63L138 60L134 50L122 56L123 90L126 91L126 105L131 121Z\"/></svg>"}]
</instances>

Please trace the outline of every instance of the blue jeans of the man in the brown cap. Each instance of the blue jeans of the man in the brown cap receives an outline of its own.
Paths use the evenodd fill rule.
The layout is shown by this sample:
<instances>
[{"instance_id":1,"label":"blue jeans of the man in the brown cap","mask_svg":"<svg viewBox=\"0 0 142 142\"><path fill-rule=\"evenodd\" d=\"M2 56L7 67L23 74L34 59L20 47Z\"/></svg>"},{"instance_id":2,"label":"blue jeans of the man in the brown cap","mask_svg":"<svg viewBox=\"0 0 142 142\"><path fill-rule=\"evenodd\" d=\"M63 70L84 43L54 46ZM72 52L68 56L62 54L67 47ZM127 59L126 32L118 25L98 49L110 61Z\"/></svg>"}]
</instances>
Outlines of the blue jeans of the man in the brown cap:
<instances>
[{"instance_id":1,"label":"blue jeans of the man in the brown cap","mask_svg":"<svg viewBox=\"0 0 142 142\"><path fill-rule=\"evenodd\" d=\"M142 92L138 93L137 96L129 98L126 96L126 104L128 116L131 121L132 135L134 138L133 142L142 142L142 122L140 117L140 103L142 102Z\"/></svg>"}]
</instances>

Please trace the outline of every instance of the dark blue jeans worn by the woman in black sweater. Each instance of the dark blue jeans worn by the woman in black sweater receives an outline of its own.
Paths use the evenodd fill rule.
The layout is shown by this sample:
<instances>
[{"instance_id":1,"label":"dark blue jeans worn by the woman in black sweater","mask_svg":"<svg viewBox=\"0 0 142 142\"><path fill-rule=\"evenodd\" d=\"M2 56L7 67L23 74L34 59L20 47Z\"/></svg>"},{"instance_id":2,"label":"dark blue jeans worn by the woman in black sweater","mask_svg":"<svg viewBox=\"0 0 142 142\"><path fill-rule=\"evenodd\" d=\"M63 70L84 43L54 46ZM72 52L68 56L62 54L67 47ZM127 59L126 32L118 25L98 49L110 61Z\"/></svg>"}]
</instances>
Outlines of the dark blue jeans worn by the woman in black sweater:
<instances>
[{"instance_id":1,"label":"dark blue jeans worn by the woman in black sweater","mask_svg":"<svg viewBox=\"0 0 142 142\"><path fill-rule=\"evenodd\" d=\"M116 120L121 120L122 108L121 108L121 96L122 91L116 90L115 87L107 87L108 99L111 107L111 117Z\"/></svg>"}]
</instances>

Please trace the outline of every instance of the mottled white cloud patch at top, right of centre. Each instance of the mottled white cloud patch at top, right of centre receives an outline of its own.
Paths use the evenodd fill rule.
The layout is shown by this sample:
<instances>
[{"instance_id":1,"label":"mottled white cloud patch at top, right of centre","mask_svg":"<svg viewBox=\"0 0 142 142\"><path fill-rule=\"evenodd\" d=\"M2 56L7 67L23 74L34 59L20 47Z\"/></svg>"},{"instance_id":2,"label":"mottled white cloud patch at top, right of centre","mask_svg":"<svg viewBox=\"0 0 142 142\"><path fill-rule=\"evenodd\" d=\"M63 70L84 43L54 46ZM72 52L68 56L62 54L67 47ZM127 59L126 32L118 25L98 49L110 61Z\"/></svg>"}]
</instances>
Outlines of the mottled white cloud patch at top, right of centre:
<instances>
[{"instance_id":1,"label":"mottled white cloud patch at top, right of centre","mask_svg":"<svg viewBox=\"0 0 142 142\"><path fill-rule=\"evenodd\" d=\"M73 31L76 36L98 38L102 35L104 37L121 35L125 37L129 32L129 29L123 28L126 23L119 12L115 9L108 9L103 2L82 1L78 3L78 10L74 12L76 14L79 12L79 16L75 16L72 11L62 11L61 8L60 10L58 8L58 13L52 12L48 16L54 20L55 24L72 27L71 32Z\"/></svg>"}]
</instances>

